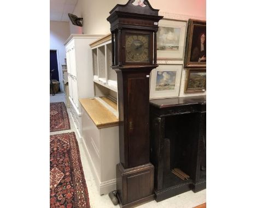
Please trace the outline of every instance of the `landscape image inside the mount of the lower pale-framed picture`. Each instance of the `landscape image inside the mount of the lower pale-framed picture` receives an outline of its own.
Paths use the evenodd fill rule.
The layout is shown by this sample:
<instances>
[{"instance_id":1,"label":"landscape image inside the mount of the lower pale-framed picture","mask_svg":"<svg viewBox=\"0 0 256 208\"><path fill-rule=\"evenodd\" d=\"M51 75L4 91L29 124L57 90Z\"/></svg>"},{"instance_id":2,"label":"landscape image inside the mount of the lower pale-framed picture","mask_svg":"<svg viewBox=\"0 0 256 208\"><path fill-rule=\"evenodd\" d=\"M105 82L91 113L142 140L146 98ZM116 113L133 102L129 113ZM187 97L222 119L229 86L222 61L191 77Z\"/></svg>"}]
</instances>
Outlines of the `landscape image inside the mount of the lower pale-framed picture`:
<instances>
[{"instance_id":1,"label":"landscape image inside the mount of the lower pale-framed picture","mask_svg":"<svg viewBox=\"0 0 256 208\"><path fill-rule=\"evenodd\" d=\"M155 91L174 90L176 71L158 71L156 75Z\"/></svg>"}]
</instances>

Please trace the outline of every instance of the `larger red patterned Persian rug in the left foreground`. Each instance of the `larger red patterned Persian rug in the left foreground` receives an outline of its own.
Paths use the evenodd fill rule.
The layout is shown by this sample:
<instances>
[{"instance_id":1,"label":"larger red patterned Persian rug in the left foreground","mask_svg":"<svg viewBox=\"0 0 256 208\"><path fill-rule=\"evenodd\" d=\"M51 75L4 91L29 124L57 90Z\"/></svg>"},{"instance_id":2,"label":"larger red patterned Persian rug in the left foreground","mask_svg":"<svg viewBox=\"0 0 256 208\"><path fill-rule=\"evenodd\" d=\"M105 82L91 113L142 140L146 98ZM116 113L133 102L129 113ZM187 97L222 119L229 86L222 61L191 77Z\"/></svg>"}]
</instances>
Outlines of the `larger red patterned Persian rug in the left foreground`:
<instances>
[{"instance_id":1,"label":"larger red patterned Persian rug in the left foreground","mask_svg":"<svg viewBox=\"0 0 256 208\"><path fill-rule=\"evenodd\" d=\"M90 208L75 133L50 136L50 208Z\"/></svg>"}]
</instances>

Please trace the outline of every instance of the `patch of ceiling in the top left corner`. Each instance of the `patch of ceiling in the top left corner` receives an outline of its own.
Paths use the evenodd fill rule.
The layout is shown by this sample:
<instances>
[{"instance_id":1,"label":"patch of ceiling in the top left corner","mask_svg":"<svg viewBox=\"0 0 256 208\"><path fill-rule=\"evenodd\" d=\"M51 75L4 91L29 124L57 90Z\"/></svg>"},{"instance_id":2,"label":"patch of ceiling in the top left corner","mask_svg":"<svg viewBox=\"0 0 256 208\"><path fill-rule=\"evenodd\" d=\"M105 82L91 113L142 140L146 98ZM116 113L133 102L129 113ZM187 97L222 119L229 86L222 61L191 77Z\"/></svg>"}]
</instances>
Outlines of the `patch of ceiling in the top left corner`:
<instances>
[{"instance_id":1,"label":"patch of ceiling in the top left corner","mask_svg":"<svg viewBox=\"0 0 256 208\"><path fill-rule=\"evenodd\" d=\"M78 0L50 0L50 21L68 22Z\"/></svg>"}]
</instances>

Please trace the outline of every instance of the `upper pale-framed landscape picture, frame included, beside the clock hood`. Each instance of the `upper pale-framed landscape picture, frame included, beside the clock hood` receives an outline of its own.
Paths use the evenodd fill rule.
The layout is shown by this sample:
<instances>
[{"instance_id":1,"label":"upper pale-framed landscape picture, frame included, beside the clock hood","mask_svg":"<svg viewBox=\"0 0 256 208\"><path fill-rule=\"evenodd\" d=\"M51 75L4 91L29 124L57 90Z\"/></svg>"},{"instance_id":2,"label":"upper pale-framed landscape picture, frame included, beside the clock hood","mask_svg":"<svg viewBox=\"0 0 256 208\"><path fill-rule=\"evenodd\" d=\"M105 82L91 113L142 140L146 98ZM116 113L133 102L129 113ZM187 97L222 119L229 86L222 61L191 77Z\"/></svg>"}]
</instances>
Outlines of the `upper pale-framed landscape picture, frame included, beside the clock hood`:
<instances>
[{"instance_id":1,"label":"upper pale-framed landscape picture, frame included, beside the clock hood","mask_svg":"<svg viewBox=\"0 0 256 208\"><path fill-rule=\"evenodd\" d=\"M158 59L183 59L186 21L160 20L157 37Z\"/></svg>"}]
</instances>

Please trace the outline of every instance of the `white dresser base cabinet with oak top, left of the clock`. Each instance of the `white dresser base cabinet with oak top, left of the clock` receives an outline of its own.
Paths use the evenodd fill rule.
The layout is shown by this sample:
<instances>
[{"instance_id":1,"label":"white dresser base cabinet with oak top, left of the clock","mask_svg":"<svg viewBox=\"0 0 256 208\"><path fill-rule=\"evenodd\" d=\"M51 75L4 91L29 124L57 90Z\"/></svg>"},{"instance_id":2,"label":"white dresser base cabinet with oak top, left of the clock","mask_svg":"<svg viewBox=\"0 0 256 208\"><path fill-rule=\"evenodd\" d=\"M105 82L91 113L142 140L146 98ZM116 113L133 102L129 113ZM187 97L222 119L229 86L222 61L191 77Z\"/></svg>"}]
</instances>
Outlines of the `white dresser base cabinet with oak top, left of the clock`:
<instances>
[{"instance_id":1,"label":"white dresser base cabinet with oak top, left of the clock","mask_svg":"<svg viewBox=\"0 0 256 208\"><path fill-rule=\"evenodd\" d=\"M86 156L100 194L115 191L119 163L119 119L117 103L108 97L79 99Z\"/></svg>"}]
</instances>

